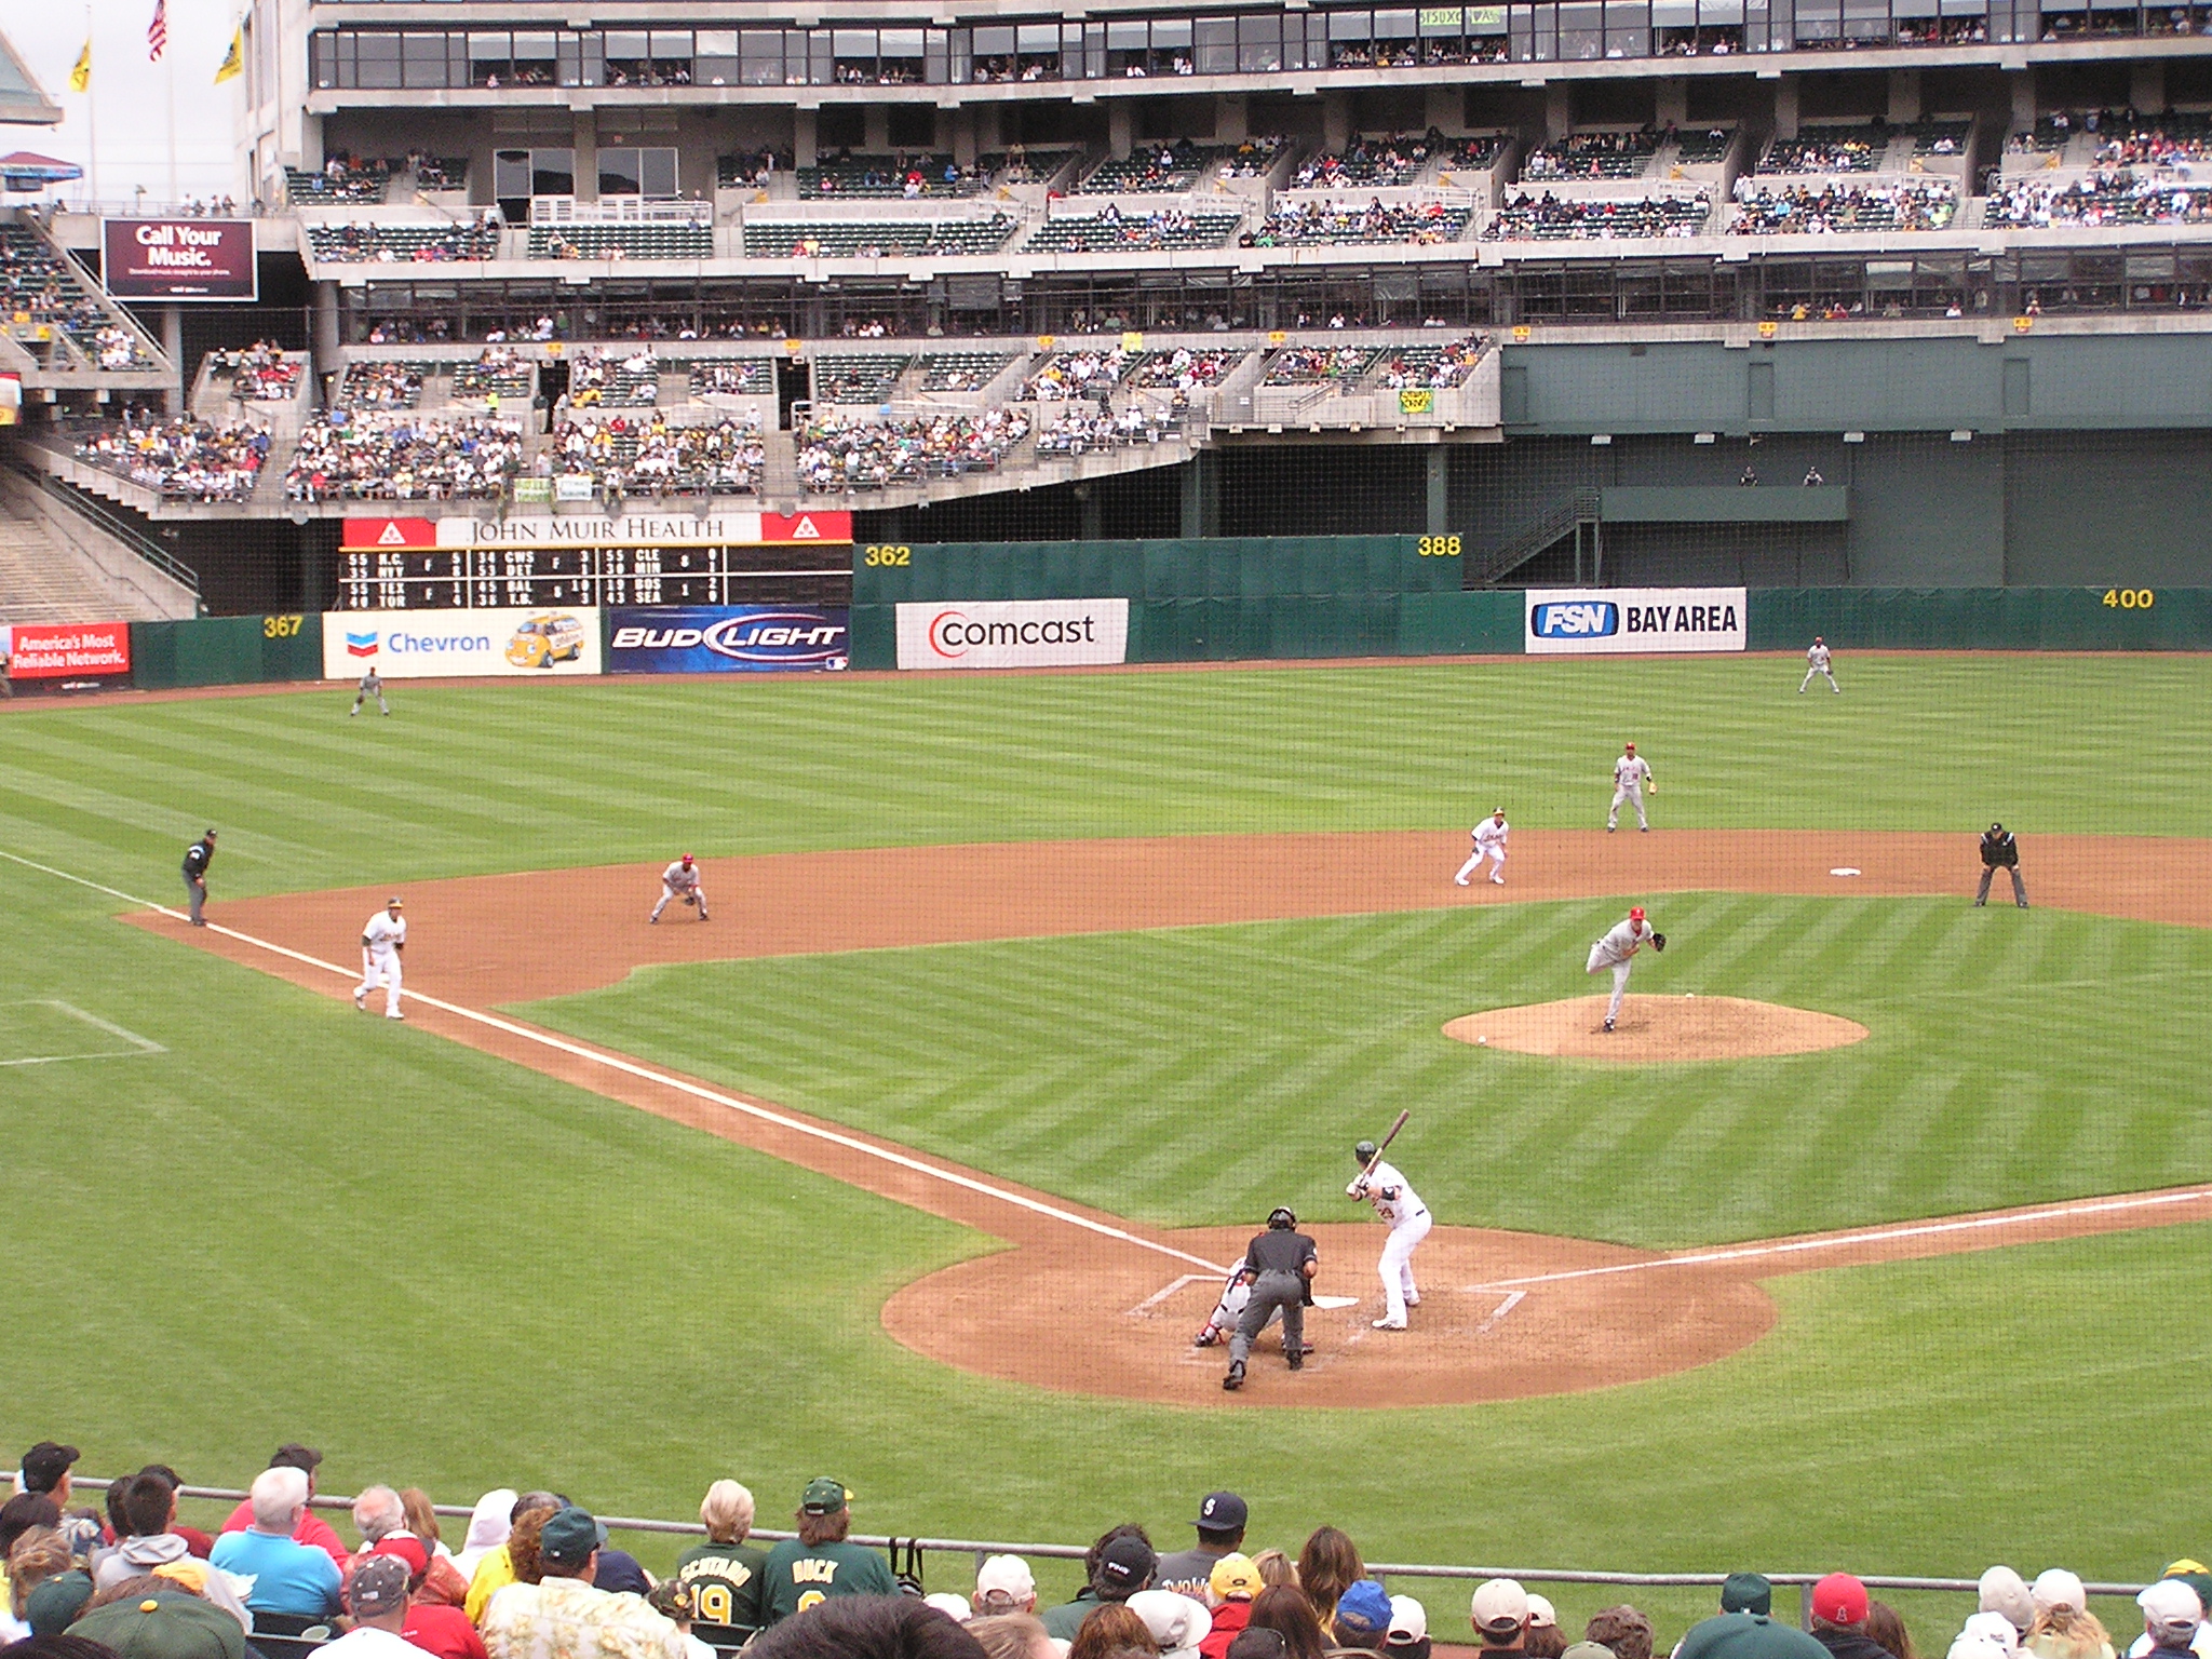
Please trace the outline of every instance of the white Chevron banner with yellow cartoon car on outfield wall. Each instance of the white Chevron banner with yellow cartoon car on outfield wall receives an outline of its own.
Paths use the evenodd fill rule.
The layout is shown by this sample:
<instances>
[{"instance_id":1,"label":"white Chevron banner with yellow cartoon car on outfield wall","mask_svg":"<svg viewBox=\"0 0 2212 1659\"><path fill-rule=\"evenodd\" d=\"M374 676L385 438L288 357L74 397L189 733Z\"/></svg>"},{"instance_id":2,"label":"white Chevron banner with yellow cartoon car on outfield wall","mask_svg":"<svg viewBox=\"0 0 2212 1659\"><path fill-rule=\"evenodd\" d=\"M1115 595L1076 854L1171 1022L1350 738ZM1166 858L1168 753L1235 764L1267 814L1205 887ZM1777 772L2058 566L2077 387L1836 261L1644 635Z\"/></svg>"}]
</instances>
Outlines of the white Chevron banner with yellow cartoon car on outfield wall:
<instances>
[{"instance_id":1,"label":"white Chevron banner with yellow cartoon car on outfield wall","mask_svg":"<svg viewBox=\"0 0 2212 1659\"><path fill-rule=\"evenodd\" d=\"M325 611L323 679L361 679L369 664L385 679L597 675L599 611Z\"/></svg>"}]
</instances>

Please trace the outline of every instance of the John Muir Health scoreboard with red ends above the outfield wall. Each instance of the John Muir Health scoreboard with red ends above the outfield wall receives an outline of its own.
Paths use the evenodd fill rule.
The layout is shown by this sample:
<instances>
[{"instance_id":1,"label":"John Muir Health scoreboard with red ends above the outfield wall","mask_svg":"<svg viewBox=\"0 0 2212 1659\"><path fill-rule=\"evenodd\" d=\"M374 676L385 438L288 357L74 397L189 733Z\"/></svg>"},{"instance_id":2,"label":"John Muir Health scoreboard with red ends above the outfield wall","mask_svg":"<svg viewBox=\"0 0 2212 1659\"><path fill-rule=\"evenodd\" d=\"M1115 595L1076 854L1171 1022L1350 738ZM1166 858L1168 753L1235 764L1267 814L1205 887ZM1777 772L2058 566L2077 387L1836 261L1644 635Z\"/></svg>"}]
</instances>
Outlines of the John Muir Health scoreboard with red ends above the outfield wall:
<instances>
[{"instance_id":1,"label":"John Muir Health scoreboard with red ends above the outfield wall","mask_svg":"<svg viewBox=\"0 0 2212 1659\"><path fill-rule=\"evenodd\" d=\"M336 575L338 611L849 602L849 513L347 520Z\"/></svg>"}]
</instances>

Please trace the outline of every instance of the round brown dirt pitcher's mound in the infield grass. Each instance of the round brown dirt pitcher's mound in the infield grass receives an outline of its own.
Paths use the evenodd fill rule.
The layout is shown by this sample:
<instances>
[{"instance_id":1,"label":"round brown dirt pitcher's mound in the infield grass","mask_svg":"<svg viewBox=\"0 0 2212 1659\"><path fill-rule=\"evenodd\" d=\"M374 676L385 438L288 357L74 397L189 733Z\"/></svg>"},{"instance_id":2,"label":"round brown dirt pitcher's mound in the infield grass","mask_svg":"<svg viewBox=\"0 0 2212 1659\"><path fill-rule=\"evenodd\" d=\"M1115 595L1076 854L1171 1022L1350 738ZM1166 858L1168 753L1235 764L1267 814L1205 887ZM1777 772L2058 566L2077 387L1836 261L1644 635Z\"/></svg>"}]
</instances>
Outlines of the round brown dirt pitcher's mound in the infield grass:
<instances>
[{"instance_id":1,"label":"round brown dirt pitcher's mound in the infield grass","mask_svg":"<svg viewBox=\"0 0 2212 1659\"><path fill-rule=\"evenodd\" d=\"M1573 998L1467 1013L1447 1024L1444 1035L1520 1055L1617 1060L1632 1066L1666 1060L1803 1055L1867 1037L1867 1029L1856 1020L1743 998L1632 995L1621 1002L1619 1029L1606 1031L1608 1000Z\"/></svg>"}]
</instances>

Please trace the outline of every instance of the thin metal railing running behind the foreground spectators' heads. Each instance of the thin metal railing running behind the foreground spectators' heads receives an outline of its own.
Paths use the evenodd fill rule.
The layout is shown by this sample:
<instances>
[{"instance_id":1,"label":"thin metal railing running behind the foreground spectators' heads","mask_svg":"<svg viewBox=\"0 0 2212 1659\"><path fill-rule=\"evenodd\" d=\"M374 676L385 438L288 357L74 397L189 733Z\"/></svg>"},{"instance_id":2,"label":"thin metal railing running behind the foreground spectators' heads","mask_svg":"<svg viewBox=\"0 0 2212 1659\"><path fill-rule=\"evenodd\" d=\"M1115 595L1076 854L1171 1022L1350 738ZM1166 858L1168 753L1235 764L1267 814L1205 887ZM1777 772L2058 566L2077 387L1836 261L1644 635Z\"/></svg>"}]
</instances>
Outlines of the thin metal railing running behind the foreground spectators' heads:
<instances>
[{"instance_id":1,"label":"thin metal railing running behind the foreground spectators' heads","mask_svg":"<svg viewBox=\"0 0 2212 1659\"><path fill-rule=\"evenodd\" d=\"M106 1491L111 1480L75 1478L73 1486L86 1491ZM181 1486L179 1498L206 1498L210 1502L243 1502L246 1491L237 1486ZM352 1498L334 1498L319 1493L307 1500L314 1509L332 1509L352 1513ZM431 1504L438 1515L451 1515L467 1520L473 1515L469 1504ZM597 1515L611 1533L648 1533L666 1537L706 1537L706 1526L699 1522L677 1522L677 1520L650 1520L644 1515ZM765 1540L770 1544L781 1544L787 1537L799 1537L799 1533L776 1531L772 1526L757 1526L750 1537ZM989 1555L1020 1555L1033 1562L1079 1562L1088 1553L1088 1544L1035 1544L1035 1542L1013 1542L1013 1540L982 1540L982 1537L907 1537L896 1533L854 1533L854 1544L865 1548L889 1551L894 1564L909 1551L922 1559L931 1555L953 1555L962 1559L962 1573L973 1582L975 1571L984 1564ZM1436 1562L1367 1562L1367 1573L1383 1582L1389 1579L1422 1579L1422 1582L1467 1582L1480 1584L1482 1579L1517 1579L1520 1584L1601 1584L1610 1588L1719 1588L1728 1582L1728 1573L1593 1573L1571 1566L1442 1566ZM1812 1586L1818 1584L1827 1573L1767 1573L1767 1582L1781 1588L1798 1590L1798 1624L1812 1626ZM1860 1573L1860 1584L1869 1590L1936 1590L1953 1595L1978 1595L1980 1579L1958 1579L1958 1577L1893 1577L1878 1573ZM2135 1597L2141 1584L2086 1584L2090 1595L2112 1595L2112 1597Z\"/></svg>"}]
</instances>

